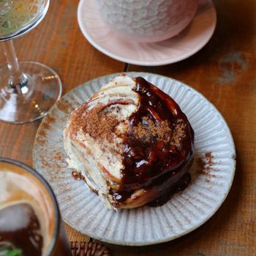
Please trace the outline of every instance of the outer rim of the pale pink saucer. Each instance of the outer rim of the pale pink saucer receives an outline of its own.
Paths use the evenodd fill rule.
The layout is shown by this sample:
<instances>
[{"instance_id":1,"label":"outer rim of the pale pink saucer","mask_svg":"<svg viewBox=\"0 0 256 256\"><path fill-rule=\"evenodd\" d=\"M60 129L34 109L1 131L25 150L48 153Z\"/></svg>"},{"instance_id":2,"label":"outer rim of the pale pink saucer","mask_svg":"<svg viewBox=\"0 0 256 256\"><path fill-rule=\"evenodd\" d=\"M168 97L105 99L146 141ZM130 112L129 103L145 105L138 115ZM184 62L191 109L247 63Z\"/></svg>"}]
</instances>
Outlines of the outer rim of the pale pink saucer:
<instances>
[{"instance_id":1,"label":"outer rim of the pale pink saucer","mask_svg":"<svg viewBox=\"0 0 256 256\"><path fill-rule=\"evenodd\" d=\"M81 9L82 9L83 4L86 4L86 1L94 1L94 0L80 0L79 4L78 4L78 10L77 10L78 26L79 26L80 31L82 32L83 36L89 41L89 43L94 48L99 50L101 53L104 53L106 56L109 56L112 59L116 59L118 61L128 63L128 64L151 67L151 66L163 66L163 65L167 65L167 64L173 64L178 61L183 61L184 59L188 59L189 57L191 57L195 53L197 53L199 50L201 50L204 46L206 46L206 44L209 42L209 40L213 36L214 31L217 26L217 12L216 12L214 2L212 0L205 0L205 1L208 1L209 3L211 3L211 6L213 7L213 10L214 10L212 13L213 20L212 20L211 30L208 32L208 36L197 48L190 50L187 54L184 54L181 57L177 57L174 59L170 58L169 60L164 60L164 61L138 61L135 59L127 59L127 58L118 56L118 55L116 55L116 53L112 53L109 50L105 50L105 48L102 48L102 46L99 45L97 42L95 42L93 37L90 36L89 32L86 29L86 26L83 26L83 21L82 21L83 13L81 12ZM107 26L107 25L105 25L105 26ZM115 34L113 34L113 35L115 35Z\"/></svg>"}]
</instances>

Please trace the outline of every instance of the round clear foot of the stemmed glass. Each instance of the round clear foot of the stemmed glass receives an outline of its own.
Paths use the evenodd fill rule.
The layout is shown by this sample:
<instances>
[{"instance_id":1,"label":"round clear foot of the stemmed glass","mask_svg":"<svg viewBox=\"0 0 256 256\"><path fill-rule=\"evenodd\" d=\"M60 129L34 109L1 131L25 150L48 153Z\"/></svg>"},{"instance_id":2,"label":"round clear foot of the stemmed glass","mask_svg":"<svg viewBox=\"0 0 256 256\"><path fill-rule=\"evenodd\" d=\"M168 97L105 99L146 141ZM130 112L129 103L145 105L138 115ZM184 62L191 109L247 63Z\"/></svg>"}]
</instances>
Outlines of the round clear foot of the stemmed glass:
<instances>
[{"instance_id":1,"label":"round clear foot of the stemmed glass","mask_svg":"<svg viewBox=\"0 0 256 256\"><path fill-rule=\"evenodd\" d=\"M9 83L7 66L0 68L0 121L24 124L45 116L61 97L61 80L57 73L33 61L20 61L20 70L27 78L27 86L18 93Z\"/></svg>"}]
</instances>

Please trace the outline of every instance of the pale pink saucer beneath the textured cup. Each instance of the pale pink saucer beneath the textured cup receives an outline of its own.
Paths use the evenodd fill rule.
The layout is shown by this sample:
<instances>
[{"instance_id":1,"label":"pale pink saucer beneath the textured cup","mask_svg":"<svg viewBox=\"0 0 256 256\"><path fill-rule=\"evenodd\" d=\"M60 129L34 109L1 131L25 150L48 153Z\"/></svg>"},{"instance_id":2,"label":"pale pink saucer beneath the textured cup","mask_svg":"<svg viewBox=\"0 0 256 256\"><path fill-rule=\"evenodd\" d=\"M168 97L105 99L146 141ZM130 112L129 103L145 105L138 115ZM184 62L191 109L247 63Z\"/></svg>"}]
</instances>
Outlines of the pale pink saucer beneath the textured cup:
<instances>
[{"instance_id":1,"label":"pale pink saucer beneath the textured cup","mask_svg":"<svg viewBox=\"0 0 256 256\"><path fill-rule=\"evenodd\" d=\"M115 34L100 18L95 0L80 0L78 23L97 50L113 59L141 66L175 63L197 53L209 41L217 23L211 0L200 0L195 18L178 36L162 42L129 41Z\"/></svg>"}]
</instances>

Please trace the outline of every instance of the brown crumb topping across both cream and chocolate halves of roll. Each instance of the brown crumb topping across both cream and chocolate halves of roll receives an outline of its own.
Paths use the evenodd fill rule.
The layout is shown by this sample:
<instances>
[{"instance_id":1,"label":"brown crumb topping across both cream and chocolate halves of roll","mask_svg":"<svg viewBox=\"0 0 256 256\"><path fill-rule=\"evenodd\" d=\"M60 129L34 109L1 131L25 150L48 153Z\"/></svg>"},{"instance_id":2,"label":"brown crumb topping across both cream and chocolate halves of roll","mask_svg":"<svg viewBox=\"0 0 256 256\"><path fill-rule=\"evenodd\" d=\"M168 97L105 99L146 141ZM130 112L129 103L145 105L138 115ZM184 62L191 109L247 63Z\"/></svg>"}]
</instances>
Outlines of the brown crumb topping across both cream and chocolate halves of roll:
<instances>
[{"instance_id":1,"label":"brown crumb topping across both cream and chocolate halves of roll","mask_svg":"<svg viewBox=\"0 0 256 256\"><path fill-rule=\"evenodd\" d=\"M78 108L72 116L72 134L76 135L80 129L86 134L96 140L113 139L113 132L115 131L119 121L116 116L108 114L111 113L105 105L99 105L96 108L87 110L88 104ZM127 134L118 134L122 138L128 136L132 139L138 140L140 143L154 143L158 140L164 143L170 143L173 146L180 146L182 140L186 137L187 125L181 119L170 124L167 120L152 121L150 118L144 116L138 123L138 126L132 128L132 132Z\"/></svg>"}]
</instances>

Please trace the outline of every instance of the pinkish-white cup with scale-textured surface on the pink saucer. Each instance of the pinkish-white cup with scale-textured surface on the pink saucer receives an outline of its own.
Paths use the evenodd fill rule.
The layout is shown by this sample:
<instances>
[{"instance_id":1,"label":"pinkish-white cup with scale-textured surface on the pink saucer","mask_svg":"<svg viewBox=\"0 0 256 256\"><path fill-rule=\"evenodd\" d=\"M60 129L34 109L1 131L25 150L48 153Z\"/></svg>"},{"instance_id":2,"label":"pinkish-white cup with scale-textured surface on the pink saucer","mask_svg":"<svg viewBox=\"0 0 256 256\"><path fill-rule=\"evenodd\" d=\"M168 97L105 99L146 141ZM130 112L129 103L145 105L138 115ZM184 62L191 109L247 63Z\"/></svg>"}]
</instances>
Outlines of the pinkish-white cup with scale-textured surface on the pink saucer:
<instances>
[{"instance_id":1,"label":"pinkish-white cup with scale-textured surface on the pink saucer","mask_svg":"<svg viewBox=\"0 0 256 256\"><path fill-rule=\"evenodd\" d=\"M97 0L102 20L113 31L138 42L158 42L181 32L198 0Z\"/></svg>"}]
</instances>

